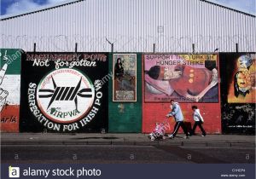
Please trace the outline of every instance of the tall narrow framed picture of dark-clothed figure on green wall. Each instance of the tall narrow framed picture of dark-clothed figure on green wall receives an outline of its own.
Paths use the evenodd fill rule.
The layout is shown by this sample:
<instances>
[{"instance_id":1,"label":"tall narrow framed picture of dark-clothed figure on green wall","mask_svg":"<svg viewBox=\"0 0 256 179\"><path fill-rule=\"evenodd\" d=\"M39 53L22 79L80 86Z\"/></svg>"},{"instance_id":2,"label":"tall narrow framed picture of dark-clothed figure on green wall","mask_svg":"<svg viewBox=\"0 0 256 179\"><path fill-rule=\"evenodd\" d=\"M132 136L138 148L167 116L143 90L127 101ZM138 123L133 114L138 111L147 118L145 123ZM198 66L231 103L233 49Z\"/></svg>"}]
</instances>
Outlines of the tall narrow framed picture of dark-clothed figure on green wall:
<instances>
[{"instance_id":1,"label":"tall narrow framed picture of dark-clothed figure on green wall","mask_svg":"<svg viewBox=\"0 0 256 179\"><path fill-rule=\"evenodd\" d=\"M137 55L113 55L113 101L137 101Z\"/></svg>"}]
</instances>

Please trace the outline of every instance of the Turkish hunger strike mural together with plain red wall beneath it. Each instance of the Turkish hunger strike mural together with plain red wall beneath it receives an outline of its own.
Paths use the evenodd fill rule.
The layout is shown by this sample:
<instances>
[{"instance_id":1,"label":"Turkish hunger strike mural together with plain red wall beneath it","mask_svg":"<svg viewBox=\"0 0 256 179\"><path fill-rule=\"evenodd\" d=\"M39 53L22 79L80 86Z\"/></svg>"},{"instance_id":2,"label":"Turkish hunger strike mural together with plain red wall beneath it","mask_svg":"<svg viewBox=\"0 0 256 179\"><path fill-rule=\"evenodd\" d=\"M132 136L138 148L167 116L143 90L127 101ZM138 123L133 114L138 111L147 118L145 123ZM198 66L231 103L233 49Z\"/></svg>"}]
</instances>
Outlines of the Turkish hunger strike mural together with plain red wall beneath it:
<instances>
[{"instance_id":1,"label":"Turkish hunger strike mural together with plain red wall beneath it","mask_svg":"<svg viewBox=\"0 0 256 179\"><path fill-rule=\"evenodd\" d=\"M174 119L166 118L171 100L180 103L189 129L195 123L191 107L196 105L207 133L222 132L217 54L143 55L143 71L143 132L151 132L155 123L163 121L168 126L166 132L172 132Z\"/></svg>"}]
</instances>

